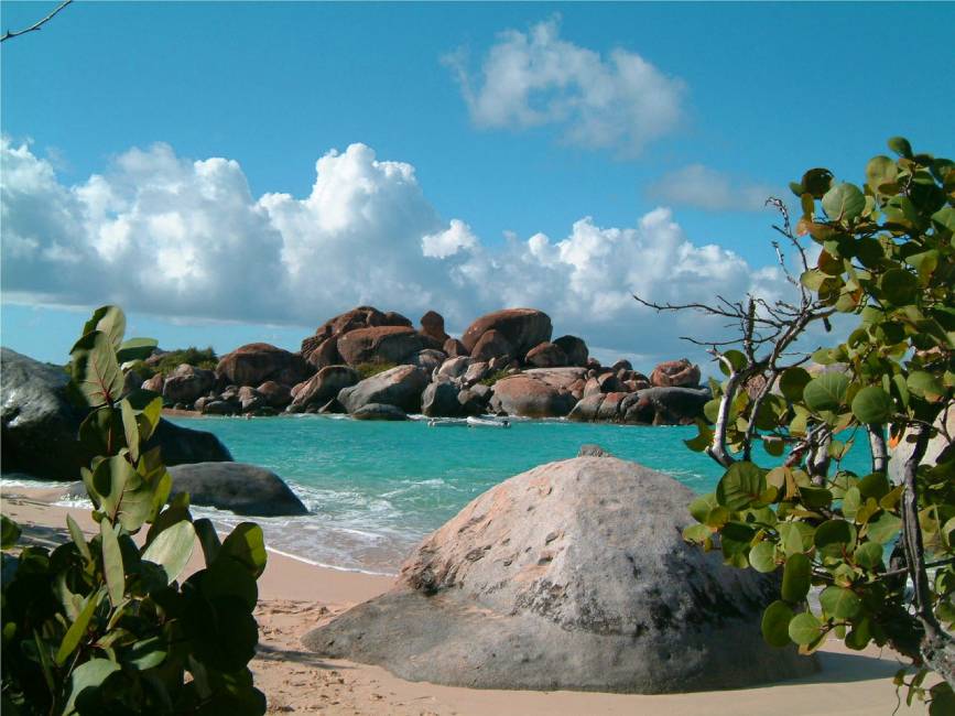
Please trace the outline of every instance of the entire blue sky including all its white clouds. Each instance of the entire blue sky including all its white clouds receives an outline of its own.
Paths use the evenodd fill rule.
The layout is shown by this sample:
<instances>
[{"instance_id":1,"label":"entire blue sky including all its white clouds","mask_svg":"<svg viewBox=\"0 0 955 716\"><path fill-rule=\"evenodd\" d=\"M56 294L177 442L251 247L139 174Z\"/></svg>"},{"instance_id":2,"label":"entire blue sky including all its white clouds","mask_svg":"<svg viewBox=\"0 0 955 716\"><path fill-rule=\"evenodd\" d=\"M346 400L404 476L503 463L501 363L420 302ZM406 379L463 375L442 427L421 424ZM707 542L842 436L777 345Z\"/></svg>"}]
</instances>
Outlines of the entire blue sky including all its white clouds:
<instances>
[{"instance_id":1,"label":"entire blue sky including all its white clouds","mask_svg":"<svg viewBox=\"0 0 955 716\"><path fill-rule=\"evenodd\" d=\"M0 2L0 28L55 2ZM165 348L296 349L359 304L547 312L603 360L705 360L786 284L768 196L955 156L952 3L67 7L0 45L0 340L65 362L118 303ZM913 52L912 48L918 51Z\"/></svg>"}]
</instances>

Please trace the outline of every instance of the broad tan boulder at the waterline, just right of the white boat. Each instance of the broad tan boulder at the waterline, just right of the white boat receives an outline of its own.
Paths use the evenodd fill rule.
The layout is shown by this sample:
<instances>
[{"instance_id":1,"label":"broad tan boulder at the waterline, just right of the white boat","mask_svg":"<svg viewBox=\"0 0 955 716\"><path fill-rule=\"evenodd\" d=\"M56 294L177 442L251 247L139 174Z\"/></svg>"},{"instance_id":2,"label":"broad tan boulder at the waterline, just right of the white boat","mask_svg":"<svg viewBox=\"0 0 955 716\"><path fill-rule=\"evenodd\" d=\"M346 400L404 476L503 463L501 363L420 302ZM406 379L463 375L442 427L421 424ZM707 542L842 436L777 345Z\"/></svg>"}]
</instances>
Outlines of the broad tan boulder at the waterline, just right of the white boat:
<instances>
[{"instance_id":1,"label":"broad tan boulder at the waterline, just right of the white boat","mask_svg":"<svg viewBox=\"0 0 955 716\"><path fill-rule=\"evenodd\" d=\"M502 378L493 386L491 409L523 417L563 417L577 402L571 387L583 376L579 368L557 368Z\"/></svg>"}]
</instances>

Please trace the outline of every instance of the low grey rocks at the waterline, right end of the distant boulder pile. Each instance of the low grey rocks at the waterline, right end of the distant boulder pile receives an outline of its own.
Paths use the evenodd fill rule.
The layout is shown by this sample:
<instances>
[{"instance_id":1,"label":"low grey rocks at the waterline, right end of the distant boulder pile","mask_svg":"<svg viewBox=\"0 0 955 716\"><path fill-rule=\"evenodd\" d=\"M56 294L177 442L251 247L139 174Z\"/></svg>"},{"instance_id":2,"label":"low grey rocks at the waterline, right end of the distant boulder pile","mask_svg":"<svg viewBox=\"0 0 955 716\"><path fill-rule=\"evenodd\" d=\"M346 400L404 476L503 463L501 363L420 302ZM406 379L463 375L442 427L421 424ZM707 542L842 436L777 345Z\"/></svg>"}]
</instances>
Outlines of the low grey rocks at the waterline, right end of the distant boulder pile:
<instances>
[{"instance_id":1,"label":"low grey rocks at the waterline, right end of the distant boulder pile","mask_svg":"<svg viewBox=\"0 0 955 716\"><path fill-rule=\"evenodd\" d=\"M708 390L694 388L592 393L574 405L567 420L631 425L687 425L703 415L703 406L710 397Z\"/></svg>"}]
</instances>

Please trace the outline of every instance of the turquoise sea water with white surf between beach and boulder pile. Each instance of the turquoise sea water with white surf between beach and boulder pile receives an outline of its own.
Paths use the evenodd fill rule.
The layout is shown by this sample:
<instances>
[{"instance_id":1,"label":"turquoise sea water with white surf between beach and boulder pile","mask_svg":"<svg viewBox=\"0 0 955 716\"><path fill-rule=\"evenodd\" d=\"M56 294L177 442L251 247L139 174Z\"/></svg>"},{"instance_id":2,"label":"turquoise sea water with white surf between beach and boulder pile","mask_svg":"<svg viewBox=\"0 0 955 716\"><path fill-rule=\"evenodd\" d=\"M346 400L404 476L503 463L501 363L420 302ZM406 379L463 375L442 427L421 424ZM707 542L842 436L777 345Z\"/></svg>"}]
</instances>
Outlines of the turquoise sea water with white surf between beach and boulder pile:
<instances>
[{"instance_id":1,"label":"turquoise sea water with white surf between beach and boulder pile","mask_svg":"<svg viewBox=\"0 0 955 716\"><path fill-rule=\"evenodd\" d=\"M510 430L430 427L424 421L316 415L175 419L215 433L236 460L282 476L312 514L261 521L270 546L319 564L391 573L422 536L491 486L596 443L617 457L669 473L697 492L720 468L690 451L695 427L513 422ZM858 447L849 469L868 471ZM767 463L771 464L771 463ZM223 525L238 520L209 511Z\"/></svg>"}]
</instances>

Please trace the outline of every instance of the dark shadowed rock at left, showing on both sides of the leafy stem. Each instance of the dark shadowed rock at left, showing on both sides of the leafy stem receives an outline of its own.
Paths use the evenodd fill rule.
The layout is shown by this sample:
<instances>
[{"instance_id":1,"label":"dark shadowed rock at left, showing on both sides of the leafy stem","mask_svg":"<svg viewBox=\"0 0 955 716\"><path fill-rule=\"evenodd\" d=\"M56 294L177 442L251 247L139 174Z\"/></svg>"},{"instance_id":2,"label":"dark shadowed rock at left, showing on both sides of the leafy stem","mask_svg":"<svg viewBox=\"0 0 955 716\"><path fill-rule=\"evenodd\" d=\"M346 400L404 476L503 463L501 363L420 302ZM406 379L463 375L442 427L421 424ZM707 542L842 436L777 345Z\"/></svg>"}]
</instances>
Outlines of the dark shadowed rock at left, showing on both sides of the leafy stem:
<instances>
[{"instance_id":1,"label":"dark shadowed rock at left, showing on both sides of the leafy stem","mask_svg":"<svg viewBox=\"0 0 955 716\"><path fill-rule=\"evenodd\" d=\"M3 470L39 479L74 480L85 456L76 442L87 414L66 398L69 377L50 366L2 348ZM211 433L180 427L161 420L146 448L159 445L166 465L231 460Z\"/></svg>"}]
</instances>

